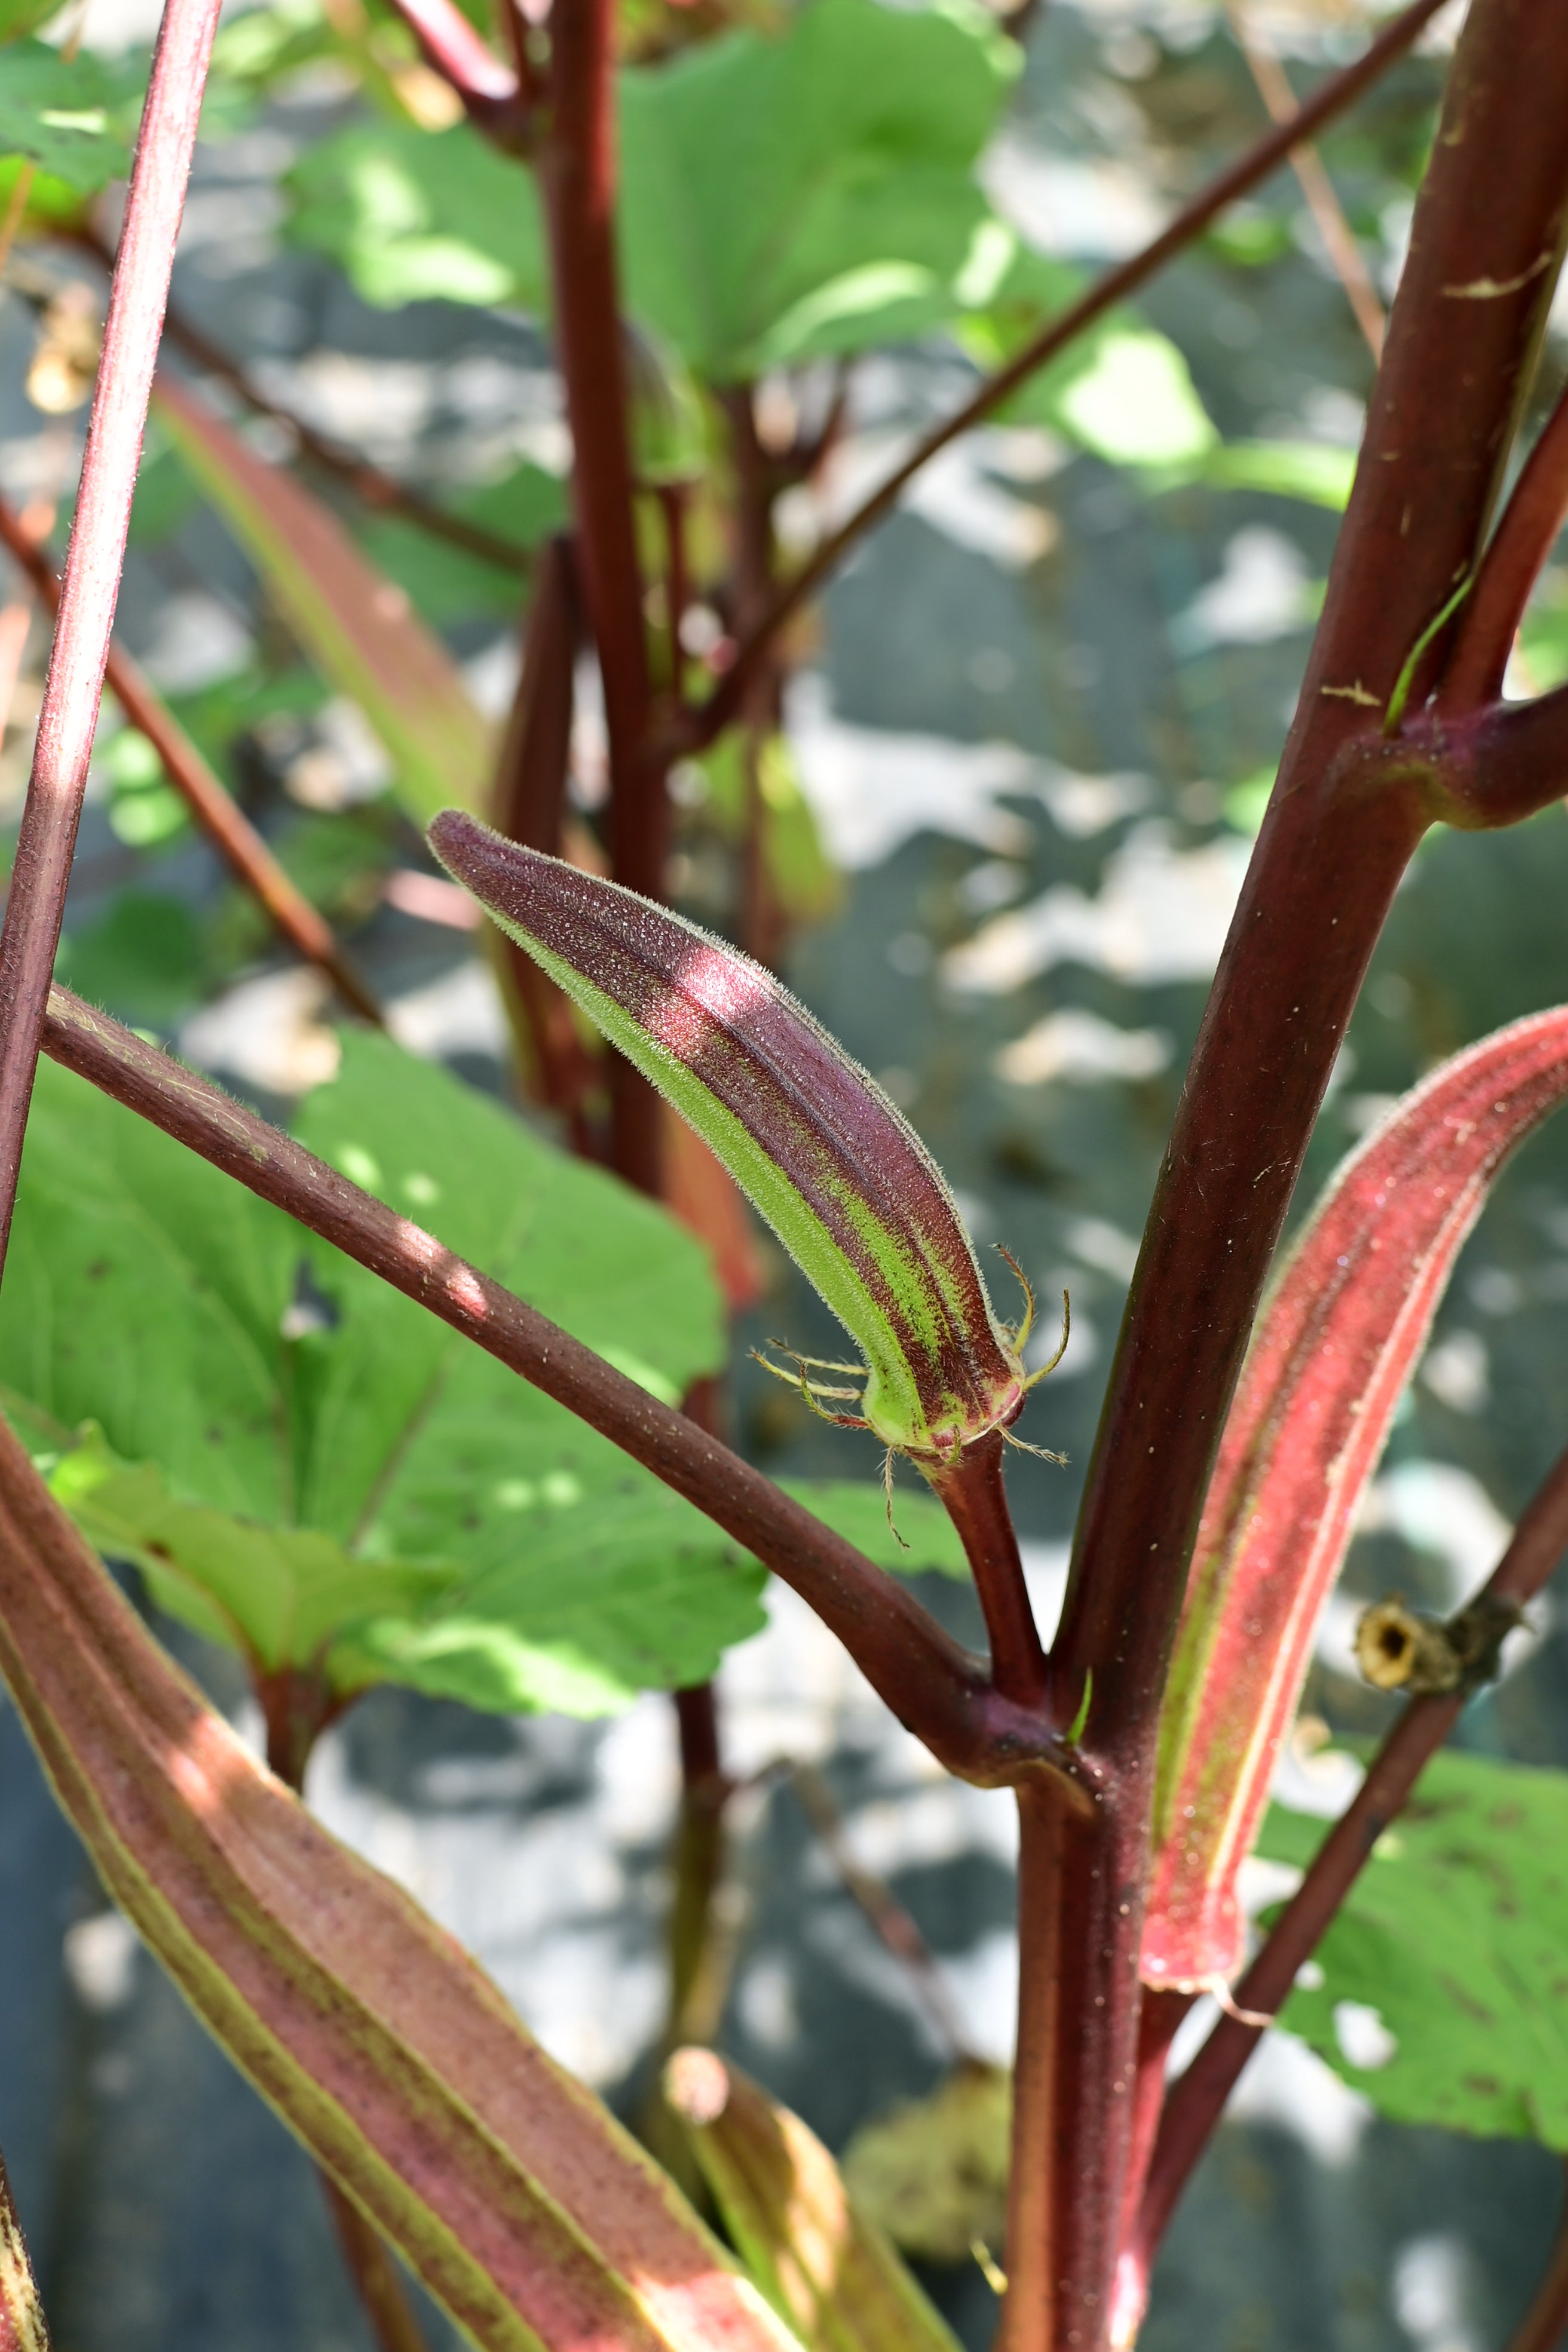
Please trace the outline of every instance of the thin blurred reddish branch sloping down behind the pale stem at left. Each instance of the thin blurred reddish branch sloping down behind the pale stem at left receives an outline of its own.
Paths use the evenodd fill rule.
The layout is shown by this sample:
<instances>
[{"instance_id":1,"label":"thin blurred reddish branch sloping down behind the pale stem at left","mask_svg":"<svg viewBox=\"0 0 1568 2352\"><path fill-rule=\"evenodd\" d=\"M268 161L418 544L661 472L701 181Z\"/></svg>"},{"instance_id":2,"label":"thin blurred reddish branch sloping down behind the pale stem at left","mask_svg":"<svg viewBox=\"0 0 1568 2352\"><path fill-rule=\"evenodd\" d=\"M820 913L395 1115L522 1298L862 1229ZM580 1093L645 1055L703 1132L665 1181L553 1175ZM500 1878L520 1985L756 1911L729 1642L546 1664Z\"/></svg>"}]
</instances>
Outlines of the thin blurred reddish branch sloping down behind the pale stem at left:
<instances>
[{"instance_id":1,"label":"thin blurred reddish branch sloping down behind the pale stem at left","mask_svg":"<svg viewBox=\"0 0 1568 2352\"><path fill-rule=\"evenodd\" d=\"M21 564L38 597L49 612L59 612L59 581L42 548L26 529L24 520L0 499L0 546ZM110 642L103 675L125 710L158 757L165 776L181 795L202 833L226 858L235 880L249 889L273 917L282 936L299 948L306 962L317 964L334 983L346 1004L367 1021L381 1023L383 1014L374 995L355 971L353 962L331 934L331 924L310 906L296 882L289 880L252 821L235 807L212 774L200 750L179 724L167 703L153 691L129 654Z\"/></svg>"}]
</instances>

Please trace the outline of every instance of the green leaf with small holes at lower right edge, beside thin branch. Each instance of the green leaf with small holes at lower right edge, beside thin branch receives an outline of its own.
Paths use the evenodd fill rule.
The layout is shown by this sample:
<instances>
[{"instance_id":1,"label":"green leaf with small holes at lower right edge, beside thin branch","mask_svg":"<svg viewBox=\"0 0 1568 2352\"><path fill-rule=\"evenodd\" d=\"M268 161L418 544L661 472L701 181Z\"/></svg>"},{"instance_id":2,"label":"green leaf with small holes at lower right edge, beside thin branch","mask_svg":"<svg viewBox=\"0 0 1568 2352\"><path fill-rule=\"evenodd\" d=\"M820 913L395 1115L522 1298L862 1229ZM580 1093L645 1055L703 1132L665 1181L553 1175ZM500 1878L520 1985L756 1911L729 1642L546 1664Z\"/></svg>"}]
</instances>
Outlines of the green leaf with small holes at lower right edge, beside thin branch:
<instances>
[{"instance_id":1,"label":"green leaf with small holes at lower right edge, beside thin branch","mask_svg":"<svg viewBox=\"0 0 1568 2352\"><path fill-rule=\"evenodd\" d=\"M1324 1828L1272 1806L1258 1851L1305 1867ZM1566 1952L1568 1773L1439 1755L1279 2023L1401 2124L1568 2150Z\"/></svg>"}]
</instances>

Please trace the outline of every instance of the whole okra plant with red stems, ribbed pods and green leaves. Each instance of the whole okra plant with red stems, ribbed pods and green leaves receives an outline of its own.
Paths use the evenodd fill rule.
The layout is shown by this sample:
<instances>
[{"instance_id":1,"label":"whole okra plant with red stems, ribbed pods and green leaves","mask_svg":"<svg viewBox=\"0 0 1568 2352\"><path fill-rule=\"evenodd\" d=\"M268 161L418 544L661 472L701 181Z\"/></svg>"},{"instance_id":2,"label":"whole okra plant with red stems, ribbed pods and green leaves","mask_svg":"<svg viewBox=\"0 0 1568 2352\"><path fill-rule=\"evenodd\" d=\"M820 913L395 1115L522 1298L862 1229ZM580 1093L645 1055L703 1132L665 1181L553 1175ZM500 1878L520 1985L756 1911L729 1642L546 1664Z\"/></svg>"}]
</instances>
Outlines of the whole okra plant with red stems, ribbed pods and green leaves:
<instances>
[{"instance_id":1,"label":"whole okra plant with red stems, ribbed pods and green leaves","mask_svg":"<svg viewBox=\"0 0 1568 2352\"><path fill-rule=\"evenodd\" d=\"M950 2343L827 2150L722 2053L670 2053L661 2166L299 1795L317 1733L376 1682L585 1715L672 1689L696 1759L686 1828L712 1832L682 1886L701 1943L722 1865L708 1682L759 1623L764 1571L945 1771L1018 1804L1009 2204L983 2249L1006 2352L1135 2340L1171 2211L1281 2009L1389 2114L1568 2147L1568 2079L1540 2058L1563 2027L1568 1783L1460 1755L1422 1780L1568 1548L1568 1454L1453 1618L1396 1597L1363 1618L1363 1670L1406 1705L1349 1811L1321 1835L1267 1809L1455 1256L1568 1094L1568 1011L1472 1042L1366 1136L1281 1256L1418 844L1519 823L1568 769L1568 687L1505 696L1568 515L1568 400L1521 447L1568 226L1552 0L1472 0L1458 35L1048 1646L1006 1491L1011 1449L1056 1451L1051 1359L1025 1367L1027 1270L1001 1268L1009 1319L914 1127L771 969L830 887L778 731L813 593L922 466L1025 400L1112 459L1312 473L1300 452L1213 452L1190 409L1173 440L1145 419L1119 452L1074 395L1086 355L1117 348L1114 365L1133 350L1180 374L1119 306L1432 14L1394 16L1145 252L1077 285L973 176L1018 66L980 12L802 0L618 24L609 0L498 0L475 24L454 0L397 0L219 33L216 0L167 0L63 576L47 522L0 517L56 607L0 934L0 1670L106 1889L320 2164L386 2345L414 2340L388 2246L496 2352ZM103 249L89 198L125 160L134 89L40 42L26 9L5 24L7 235ZM505 501L430 506L303 428L301 470L273 463L162 367L160 336L266 407L200 325L165 327L214 35L219 96L280 59L348 56L381 101L292 191L296 235L369 299L451 294L456 273L458 299L548 318L574 463L569 510L531 546ZM63 365L59 313L49 332ZM987 369L978 388L790 569L780 499L842 433L839 379L936 332ZM769 437L757 388L790 372L802 405ZM371 1033L378 1004L320 906L110 642L148 414L489 917L522 1084L559 1143ZM501 743L303 461L491 576L527 574ZM583 652L604 699L599 835L567 795ZM52 978L106 677L268 922L364 1021L292 1134ZM743 946L668 906L670 776L691 760L729 828ZM724 1308L748 1296L738 1195L844 1327L839 1357L785 1350L771 1369L875 1439L886 1505L851 1477L785 1491L710 1425ZM893 1496L900 1458L917 1494ZM103 1559L240 1653L270 1769ZM987 1656L943 1632L900 1564L969 1573ZM1248 1952L1253 1851L1302 1877ZM1462 1952L1458 1990L1436 1933ZM1171 2077L1204 1992L1218 2023ZM1396 2065L1345 2058L1342 1999L1396 2020ZM1566 2324L1559 2253L1519 2345ZM0 2340L47 2340L5 2199Z\"/></svg>"}]
</instances>

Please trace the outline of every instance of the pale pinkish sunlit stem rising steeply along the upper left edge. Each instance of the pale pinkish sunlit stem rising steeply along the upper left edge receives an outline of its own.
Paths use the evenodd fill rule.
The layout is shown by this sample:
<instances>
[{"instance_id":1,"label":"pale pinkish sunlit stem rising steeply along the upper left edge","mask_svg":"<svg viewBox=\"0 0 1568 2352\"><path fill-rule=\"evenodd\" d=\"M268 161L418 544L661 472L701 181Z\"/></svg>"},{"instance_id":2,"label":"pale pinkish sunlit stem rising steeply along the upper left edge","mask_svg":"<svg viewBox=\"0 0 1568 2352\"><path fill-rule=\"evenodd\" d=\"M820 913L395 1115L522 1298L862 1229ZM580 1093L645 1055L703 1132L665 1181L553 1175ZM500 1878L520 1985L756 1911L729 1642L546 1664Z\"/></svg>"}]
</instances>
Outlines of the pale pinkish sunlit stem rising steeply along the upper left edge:
<instances>
[{"instance_id":1,"label":"pale pinkish sunlit stem rising steeply along the upper left edge","mask_svg":"<svg viewBox=\"0 0 1568 2352\"><path fill-rule=\"evenodd\" d=\"M103 691L125 534L219 0L167 0L108 296L59 626L0 931L0 1261Z\"/></svg>"}]
</instances>

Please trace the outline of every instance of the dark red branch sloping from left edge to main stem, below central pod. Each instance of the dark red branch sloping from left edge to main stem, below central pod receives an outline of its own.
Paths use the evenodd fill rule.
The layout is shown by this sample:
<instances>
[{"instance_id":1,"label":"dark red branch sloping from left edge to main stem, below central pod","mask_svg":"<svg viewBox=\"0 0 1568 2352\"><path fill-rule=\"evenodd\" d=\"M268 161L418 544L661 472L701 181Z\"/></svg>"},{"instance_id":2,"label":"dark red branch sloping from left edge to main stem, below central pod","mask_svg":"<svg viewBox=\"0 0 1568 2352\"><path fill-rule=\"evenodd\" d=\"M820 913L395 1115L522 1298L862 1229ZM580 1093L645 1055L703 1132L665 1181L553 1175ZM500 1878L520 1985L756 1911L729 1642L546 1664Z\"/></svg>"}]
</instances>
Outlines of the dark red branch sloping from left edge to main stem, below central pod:
<instances>
[{"instance_id":1,"label":"dark red branch sloping from left edge to main stem, below central pod","mask_svg":"<svg viewBox=\"0 0 1568 2352\"><path fill-rule=\"evenodd\" d=\"M66 988L49 993L45 1051L440 1315L696 1503L799 1592L893 1715L959 1778L1006 1783L1053 1755L1039 1724L990 1689L903 1585L717 1437L409 1218Z\"/></svg>"}]
</instances>

